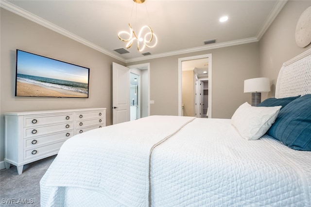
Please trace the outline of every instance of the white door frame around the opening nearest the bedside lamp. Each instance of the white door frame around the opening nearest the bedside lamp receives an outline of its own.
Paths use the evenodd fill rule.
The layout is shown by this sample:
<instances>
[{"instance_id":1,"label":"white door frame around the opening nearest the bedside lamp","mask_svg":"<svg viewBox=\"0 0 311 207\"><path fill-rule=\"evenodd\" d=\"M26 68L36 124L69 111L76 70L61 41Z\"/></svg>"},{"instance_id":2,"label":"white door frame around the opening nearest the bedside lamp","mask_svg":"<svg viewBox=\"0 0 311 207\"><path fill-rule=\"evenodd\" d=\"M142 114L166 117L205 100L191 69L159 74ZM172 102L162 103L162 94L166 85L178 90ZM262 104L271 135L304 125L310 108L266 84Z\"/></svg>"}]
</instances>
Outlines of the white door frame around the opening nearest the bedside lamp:
<instances>
[{"instance_id":1,"label":"white door frame around the opening nearest the bedside lamp","mask_svg":"<svg viewBox=\"0 0 311 207\"><path fill-rule=\"evenodd\" d=\"M182 61L208 58L208 118L212 118L212 54L178 58L178 116L182 114Z\"/></svg>"}]
</instances>

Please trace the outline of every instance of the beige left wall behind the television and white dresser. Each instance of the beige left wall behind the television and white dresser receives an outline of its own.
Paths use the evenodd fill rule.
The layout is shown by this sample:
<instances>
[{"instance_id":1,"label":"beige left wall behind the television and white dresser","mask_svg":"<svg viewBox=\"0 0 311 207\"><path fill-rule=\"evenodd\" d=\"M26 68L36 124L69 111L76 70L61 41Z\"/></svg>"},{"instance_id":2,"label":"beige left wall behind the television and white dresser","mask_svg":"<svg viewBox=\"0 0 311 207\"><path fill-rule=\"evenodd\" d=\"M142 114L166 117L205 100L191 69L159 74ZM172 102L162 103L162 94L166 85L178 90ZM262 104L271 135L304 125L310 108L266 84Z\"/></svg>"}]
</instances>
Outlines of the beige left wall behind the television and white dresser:
<instances>
[{"instance_id":1,"label":"beige left wall behind the television and white dresser","mask_svg":"<svg viewBox=\"0 0 311 207\"><path fill-rule=\"evenodd\" d=\"M5 112L106 107L107 125L112 123L112 62L124 63L2 8L0 31L0 161ZM16 98L16 49L90 68L89 98Z\"/></svg>"}]
</instances>

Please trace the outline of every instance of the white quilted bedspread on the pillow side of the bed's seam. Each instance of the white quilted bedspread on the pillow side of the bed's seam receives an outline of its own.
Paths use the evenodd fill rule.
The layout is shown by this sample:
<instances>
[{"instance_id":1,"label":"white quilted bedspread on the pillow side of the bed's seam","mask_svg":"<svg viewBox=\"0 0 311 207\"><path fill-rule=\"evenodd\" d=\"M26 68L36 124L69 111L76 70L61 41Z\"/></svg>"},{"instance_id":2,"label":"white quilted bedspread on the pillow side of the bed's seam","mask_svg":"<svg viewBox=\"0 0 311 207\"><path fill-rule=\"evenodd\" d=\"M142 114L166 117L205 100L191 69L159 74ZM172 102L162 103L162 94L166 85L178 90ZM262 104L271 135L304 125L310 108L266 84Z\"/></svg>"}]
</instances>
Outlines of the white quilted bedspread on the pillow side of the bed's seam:
<instances>
[{"instance_id":1,"label":"white quilted bedspread on the pillow side of the bed's seam","mask_svg":"<svg viewBox=\"0 0 311 207\"><path fill-rule=\"evenodd\" d=\"M153 151L152 206L311 206L311 152L195 119Z\"/></svg>"}]
</instances>

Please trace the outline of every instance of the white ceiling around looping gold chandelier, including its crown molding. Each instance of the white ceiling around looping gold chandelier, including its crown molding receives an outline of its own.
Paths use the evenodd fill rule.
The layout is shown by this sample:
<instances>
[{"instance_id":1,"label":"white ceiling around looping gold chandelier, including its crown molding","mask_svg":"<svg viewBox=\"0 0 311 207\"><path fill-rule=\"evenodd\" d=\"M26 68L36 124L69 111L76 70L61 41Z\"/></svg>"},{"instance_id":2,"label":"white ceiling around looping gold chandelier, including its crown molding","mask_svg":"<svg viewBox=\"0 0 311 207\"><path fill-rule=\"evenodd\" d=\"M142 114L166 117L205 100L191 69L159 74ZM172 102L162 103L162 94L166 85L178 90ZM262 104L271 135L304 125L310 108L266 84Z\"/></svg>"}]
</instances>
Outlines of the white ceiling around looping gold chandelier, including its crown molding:
<instances>
[{"instance_id":1,"label":"white ceiling around looping gold chandelier, including its crown molding","mask_svg":"<svg viewBox=\"0 0 311 207\"><path fill-rule=\"evenodd\" d=\"M0 1L1 7L9 11L124 62L259 41L285 3L286 0L146 0L143 4L133 0ZM224 15L228 21L219 22ZM136 42L127 49L129 53L113 51L125 48L126 43L117 34L129 31L128 23L136 33L142 25L152 27L158 44L143 51L151 55L138 52ZM209 39L216 39L216 43L204 45L203 41Z\"/></svg>"}]
</instances>

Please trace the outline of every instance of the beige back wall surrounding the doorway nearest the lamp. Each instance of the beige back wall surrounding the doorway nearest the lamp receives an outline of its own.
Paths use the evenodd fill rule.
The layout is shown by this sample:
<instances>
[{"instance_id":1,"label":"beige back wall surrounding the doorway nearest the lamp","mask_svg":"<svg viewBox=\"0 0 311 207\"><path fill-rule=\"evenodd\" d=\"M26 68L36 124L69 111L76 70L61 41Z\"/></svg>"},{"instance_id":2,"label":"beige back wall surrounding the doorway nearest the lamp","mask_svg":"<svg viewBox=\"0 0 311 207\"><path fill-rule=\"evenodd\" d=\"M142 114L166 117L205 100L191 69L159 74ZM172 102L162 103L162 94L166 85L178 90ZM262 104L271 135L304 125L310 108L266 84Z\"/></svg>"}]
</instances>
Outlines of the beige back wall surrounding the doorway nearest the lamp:
<instances>
[{"instance_id":1,"label":"beige back wall surrounding the doorway nearest the lamp","mask_svg":"<svg viewBox=\"0 0 311 207\"><path fill-rule=\"evenodd\" d=\"M212 118L231 118L237 107L251 101L244 80L259 76L259 43L192 52L128 63L150 63L151 115L178 115L178 58L212 54Z\"/></svg>"}]
</instances>

